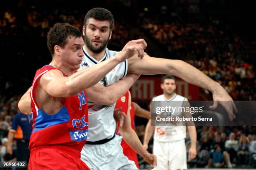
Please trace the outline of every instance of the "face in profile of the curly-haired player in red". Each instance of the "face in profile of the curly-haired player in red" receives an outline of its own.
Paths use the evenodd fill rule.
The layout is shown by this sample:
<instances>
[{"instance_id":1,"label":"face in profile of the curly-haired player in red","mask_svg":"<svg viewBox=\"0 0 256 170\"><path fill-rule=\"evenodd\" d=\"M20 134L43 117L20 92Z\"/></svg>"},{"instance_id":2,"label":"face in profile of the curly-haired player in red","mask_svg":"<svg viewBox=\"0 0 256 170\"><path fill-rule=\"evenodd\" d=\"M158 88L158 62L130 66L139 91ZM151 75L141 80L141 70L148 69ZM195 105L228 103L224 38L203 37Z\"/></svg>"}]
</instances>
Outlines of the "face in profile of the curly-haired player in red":
<instances>
[{"instance_id":1,"label":"face in profile of the curly-haired player in red","mask_svg":"<svg viewBox=\"0 0 256 170\"><path fill-rule=\"evenodd\" d=\"M62 62L67 63L72 70L79 69L80 63L82 63L82 58L84 56L82 51L83 46L84 40L82 37L67 38L67 44L60 50Z\"/></svg>"}]
</instances>

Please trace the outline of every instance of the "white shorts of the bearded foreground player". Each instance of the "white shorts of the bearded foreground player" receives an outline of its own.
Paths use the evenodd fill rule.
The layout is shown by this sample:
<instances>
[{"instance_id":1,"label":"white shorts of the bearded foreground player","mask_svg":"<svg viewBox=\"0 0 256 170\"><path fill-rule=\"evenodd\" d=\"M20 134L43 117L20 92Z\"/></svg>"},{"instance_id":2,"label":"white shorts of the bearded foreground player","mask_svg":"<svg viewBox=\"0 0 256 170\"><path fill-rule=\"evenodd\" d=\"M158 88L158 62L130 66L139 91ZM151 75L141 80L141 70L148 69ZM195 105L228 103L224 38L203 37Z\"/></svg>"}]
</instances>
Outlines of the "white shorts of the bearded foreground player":
<instances>
[{"instance_id":1,"label":"white shorts of the bearded foreground player","mask_svg":"<svg viewBox=\"0 0 256 170\"><path fill-rule=\"evenodd\" d=\"M85 144L81 160L91 170L138 170L135 163L123 155L120 142L121 138L115 136L113 140L101 145Z\"/></svg>"}]
</instances>

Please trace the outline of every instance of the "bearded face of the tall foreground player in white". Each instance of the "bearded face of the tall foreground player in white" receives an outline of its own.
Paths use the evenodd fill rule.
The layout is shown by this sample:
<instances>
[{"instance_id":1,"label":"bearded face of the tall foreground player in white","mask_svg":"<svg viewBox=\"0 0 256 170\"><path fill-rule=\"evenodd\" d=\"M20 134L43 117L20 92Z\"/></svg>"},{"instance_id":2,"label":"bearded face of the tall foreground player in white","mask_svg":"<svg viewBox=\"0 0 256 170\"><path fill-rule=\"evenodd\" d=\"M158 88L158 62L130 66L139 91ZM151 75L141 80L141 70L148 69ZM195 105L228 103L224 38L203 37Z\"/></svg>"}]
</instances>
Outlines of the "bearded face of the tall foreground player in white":
<instances>
[{"instance_id":1,"label":"bearded face of the tall foreground player in white","mask_svg":"<svg viewBox=\"0 0 256 170\"><path fill-rule=\"evenodd\" d=\"M110 21L90 18L83 28L84 42L93 53L102 52L111 38Z\"/></svg>"}]
</instances>

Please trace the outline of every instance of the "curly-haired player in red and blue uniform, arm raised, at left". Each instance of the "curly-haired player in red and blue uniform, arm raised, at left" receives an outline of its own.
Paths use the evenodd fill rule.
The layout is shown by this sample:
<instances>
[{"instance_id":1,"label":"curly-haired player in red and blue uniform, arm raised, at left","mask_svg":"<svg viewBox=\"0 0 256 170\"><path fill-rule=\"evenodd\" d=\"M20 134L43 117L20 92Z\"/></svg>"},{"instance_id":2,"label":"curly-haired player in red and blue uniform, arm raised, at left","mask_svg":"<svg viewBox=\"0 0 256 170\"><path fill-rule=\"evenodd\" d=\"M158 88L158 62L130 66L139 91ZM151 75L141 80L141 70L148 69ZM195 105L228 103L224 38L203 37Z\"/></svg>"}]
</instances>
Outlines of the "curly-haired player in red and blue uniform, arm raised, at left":
<instances>
[{"instance_id":1,"label":"curly-haired player in red and blue uniform, arm raised, at left","mask_svg":"<svg viewBox=\"0 0 256 170\"><path fill-rule=\"evenodd\" d=\"M134 53L144 55L143 44L133 41L115 57L76 72L82 62L83 45L80 31L67 23L55 24L48 33L47 46L52 61L38 69L30 93L33 131L28 167L31 170L89 169L80 160L89 125L84 89L97 84Z\"/></svg>"}]
</instances>

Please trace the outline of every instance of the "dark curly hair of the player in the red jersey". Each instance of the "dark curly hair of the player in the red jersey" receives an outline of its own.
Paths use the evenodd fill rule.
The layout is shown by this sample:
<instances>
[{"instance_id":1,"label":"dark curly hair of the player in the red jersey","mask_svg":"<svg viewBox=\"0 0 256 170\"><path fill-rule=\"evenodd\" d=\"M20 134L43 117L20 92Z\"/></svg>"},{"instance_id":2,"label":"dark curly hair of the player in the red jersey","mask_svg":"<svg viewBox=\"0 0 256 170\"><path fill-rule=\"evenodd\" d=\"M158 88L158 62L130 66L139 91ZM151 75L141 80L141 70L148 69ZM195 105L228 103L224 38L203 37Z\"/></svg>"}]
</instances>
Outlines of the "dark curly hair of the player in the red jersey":
<instances>
[{"instance_id":1,"label":"dark curly hair of the player in the red jersey","mask_svg":"<svg viewBox=\"0 0 256 170\"><path fill-rule=\"evenodd\" d=\"M68 23L56 23L50 28L47 34L47 47L51 53L54 54L54 46L58 45L63 48L67 43L68 37L82 37L79 29L74 28Z\"/></svg>"}]
</instances>

